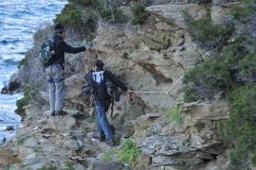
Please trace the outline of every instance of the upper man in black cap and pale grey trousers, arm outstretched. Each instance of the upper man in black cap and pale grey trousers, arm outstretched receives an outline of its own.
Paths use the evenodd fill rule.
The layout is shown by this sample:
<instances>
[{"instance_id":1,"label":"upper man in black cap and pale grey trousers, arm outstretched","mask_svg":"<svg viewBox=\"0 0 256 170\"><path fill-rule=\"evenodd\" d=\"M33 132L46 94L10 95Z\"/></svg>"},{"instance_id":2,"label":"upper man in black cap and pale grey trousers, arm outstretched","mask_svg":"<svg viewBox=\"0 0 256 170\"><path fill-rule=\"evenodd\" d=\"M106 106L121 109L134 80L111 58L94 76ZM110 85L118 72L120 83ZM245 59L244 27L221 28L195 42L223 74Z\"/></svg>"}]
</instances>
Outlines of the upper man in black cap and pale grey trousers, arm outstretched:
<instances>
[{"instance_id":1,"label":"upper man in black cap and pale grey trousers, arm outstretched","mask_svg":"<svg viewBox=\"0 0 256 170\"><path fill-rule=\"evenodd\" d=\"M72 47L64 42L64 26L57 24L54 26L55 35L53 37L54 58L46 67L47 84L49 89L50 115L65 115L64 108L64 53L81 53L86 51L86 47ZM91 49L89 49L91 50Z\"/></svg>"}]
</instances>

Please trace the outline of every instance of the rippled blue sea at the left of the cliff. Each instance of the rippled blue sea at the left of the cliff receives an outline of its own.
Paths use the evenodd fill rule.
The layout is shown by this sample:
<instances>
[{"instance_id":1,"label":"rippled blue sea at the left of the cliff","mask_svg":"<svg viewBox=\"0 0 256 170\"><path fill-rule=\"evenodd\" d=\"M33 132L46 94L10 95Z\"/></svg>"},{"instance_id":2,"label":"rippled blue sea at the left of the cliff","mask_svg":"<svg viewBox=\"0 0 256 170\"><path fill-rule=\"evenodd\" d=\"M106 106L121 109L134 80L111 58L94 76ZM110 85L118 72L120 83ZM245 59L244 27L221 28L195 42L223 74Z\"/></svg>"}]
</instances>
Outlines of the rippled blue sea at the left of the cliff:
<instances>
[{"instance_id":1,"label":"rippled blue sea at the left of the cliff","mask_svg":"<svg viewBox=\"0 0 256 170\"><path fill-rule=\"evenodd\" d=\"M18 62L32 45L32 34L40 26L51 23L64 8L66 0L0 0L0 89L17 71ZM0 143L14 132L7 126L18 127L21 118L15 114L16 100L22 94L0 94Z\"/></svg>"}]
</instances>

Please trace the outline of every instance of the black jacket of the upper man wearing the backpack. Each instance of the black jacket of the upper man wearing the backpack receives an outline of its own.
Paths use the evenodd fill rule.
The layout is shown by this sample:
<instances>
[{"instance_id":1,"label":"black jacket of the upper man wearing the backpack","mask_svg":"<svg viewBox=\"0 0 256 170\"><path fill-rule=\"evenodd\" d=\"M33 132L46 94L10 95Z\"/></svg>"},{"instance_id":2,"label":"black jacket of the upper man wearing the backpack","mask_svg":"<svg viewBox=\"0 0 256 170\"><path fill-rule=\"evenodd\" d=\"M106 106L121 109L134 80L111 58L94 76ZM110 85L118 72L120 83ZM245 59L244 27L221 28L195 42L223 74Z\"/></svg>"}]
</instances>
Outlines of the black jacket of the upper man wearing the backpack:
<instances>
[{"instance_id":1,"label":"black jacket of the upper man wearing the backpack","mask_svg":"<svg viewBox=\"0 0 256 170\"><path fill-rule=\"evenodd\" d=\"M58 36L55 35L53 37L54 39L54 51L55 51L55 59L53 61L54 64L64 64L64 53L81 53L82 51L85 51L85 47L72 47L64 42L64 40Z\"/></svg>"}]
</instances>

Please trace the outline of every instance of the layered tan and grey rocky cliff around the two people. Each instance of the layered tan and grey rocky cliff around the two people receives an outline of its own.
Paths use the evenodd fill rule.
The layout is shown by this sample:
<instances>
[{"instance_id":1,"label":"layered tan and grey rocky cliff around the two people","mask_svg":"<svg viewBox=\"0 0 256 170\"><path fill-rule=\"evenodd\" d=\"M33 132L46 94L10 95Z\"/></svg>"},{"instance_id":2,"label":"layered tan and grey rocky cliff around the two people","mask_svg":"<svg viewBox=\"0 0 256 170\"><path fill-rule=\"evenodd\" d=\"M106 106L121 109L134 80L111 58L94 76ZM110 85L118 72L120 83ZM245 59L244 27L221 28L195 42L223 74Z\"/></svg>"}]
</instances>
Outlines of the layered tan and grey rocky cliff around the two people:
<instances>
[{"instance_id":1,"label":"layered tan and grey rocky cliff around the two people","mask_svg":"<svg viewBox=\"0 0 256 170\"><path fill-rule=\"evenodd\" d=\"M229 117L227 101L183 103L179 80L207 51L192 42L183 13L193 18L210 14L214 23L230 20L229 1L156 1L146 8L150 17L141 26L113 24L99 20L93 40L98 54L66 56L66 98L68 115L50 117L46 111L45 75L39 66L39 44L49 35L47 29L35 35L34 47L15 81L31 90L22 127L7 147L23 163L16 169L228 169L227 144L218 139L217 122ZM122 7L129 15L131 8ZM82 44L70 30L67 42ZM76 36L74 36L76 35ZM93 59L100 58L106 69L119 76L137 92L135 101L125 93L115 103L114 119L119 143L130 137L141 154L136 165L120 163L115 156L102 161L102 155L113 149L92 138L97 127L94 110L82 95L83 76ZM15 77L19 77L18 79ZM178 121L170 118L170 108L178 107ZM167 113L166 113L167 112ZM172 111L171 111L172 113ZM171 116L172 117L172 116ZM119 149L119 145L114 149ZM113 154L115 155L115 154Z\"/></svg>"}]
</instances>

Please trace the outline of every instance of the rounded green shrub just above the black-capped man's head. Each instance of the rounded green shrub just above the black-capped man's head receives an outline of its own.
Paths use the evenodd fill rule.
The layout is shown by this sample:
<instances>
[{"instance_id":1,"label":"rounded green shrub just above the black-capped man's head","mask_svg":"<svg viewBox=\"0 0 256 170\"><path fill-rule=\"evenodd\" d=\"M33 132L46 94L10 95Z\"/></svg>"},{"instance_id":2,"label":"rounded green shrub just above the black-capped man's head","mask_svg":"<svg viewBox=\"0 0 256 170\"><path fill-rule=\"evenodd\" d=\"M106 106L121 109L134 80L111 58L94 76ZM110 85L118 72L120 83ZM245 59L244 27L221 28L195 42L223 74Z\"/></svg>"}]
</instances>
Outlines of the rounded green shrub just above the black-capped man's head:
<instances>
[{"instance_id":1,"label":"rounded green shrub just above the black-capped man's head","mask_svg":"<svg viewBox=\"0 0 256 170\"><path fill-rule=\"evenodd\" d=\"M60 23L64 26L82 25L82 12L73 4L64 6L60 14L57 14L54 23Z\"/></svg>"}]
</instances>

